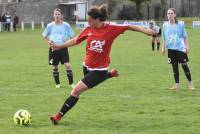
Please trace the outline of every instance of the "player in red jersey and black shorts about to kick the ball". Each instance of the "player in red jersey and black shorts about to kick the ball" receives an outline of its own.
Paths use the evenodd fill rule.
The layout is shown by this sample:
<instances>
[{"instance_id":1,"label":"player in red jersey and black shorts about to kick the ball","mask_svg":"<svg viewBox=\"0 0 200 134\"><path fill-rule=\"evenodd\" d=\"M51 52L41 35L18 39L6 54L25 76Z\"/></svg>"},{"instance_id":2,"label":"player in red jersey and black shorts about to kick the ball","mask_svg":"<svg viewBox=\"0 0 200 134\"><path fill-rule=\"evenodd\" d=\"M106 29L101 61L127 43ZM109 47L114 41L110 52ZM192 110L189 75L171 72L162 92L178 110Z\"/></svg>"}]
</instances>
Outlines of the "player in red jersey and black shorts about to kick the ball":
<instances>
[{"instance_id":1,"label":"player in red jersey and black shorts about to kick the ball","mask_svg":"<svg viewBox=\"0 0 200 134\"><path fill-rule=\"evenodd\" d=\"M50 119L56 125L60 119L77 103L84 91L91 89L111 77L117 77L116 69L108 71L110 64L110 50L114 39L126 30L138 31L149 36L156 31L139 26L114 25L105 23L107 6L94 6L88 11L88 24L80 35L66 41L63 45L52 45L53 50L59 50L80 44L86 40L86 55L83 62L84 78L73 88L71 95L66 99L60 111Z\"/></svg>"}]
</instances>

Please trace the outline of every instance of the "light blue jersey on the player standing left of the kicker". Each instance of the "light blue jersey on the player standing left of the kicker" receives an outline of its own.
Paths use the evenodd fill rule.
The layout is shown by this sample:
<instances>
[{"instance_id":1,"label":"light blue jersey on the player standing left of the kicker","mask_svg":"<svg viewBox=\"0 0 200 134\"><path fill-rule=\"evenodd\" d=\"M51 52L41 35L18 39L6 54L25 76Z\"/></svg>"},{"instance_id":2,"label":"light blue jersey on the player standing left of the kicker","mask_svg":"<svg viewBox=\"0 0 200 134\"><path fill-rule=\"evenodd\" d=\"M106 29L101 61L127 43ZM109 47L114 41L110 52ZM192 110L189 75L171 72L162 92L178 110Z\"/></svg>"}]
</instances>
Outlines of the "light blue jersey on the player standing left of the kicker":
<instances>
[{"instance_id":1,"label":"light blue jersey on the player standing left of the kicker","mask_svg":"<svg viewBox=\"0 0 200 134\"><path fill-rule=\"evenodd\" d=\"M56 25L52 22L46 26L42 35L53 41L55 45L62 45L66 40L74 36L74 32L66 22L63 22L60 25Z\"/></svg>"}]
</instances>

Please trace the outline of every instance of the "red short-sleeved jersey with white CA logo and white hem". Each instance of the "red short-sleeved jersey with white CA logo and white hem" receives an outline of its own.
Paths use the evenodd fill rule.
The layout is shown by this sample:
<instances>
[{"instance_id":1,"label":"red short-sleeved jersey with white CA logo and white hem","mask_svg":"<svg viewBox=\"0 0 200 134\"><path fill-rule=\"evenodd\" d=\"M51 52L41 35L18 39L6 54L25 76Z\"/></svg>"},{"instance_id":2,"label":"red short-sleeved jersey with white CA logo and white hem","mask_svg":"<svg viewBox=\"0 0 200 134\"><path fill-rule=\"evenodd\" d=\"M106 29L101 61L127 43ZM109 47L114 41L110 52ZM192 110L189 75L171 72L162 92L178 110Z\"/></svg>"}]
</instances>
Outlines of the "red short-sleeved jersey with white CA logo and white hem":
<instances>
[{"instance_id":1,"label":"red short-sleeved jersey with white CA logo and white hem","mask_svg":"<svg viewBox=\"0 0 200 134\"><path fill-rule=\"evenodd\" d=\"M85 28L77 38L77 44L87 40L86 56L83 65L89 70L108 70L110 50L114 39L128 26L107 24L101 28Z\"/></svg>"}]
</instances>

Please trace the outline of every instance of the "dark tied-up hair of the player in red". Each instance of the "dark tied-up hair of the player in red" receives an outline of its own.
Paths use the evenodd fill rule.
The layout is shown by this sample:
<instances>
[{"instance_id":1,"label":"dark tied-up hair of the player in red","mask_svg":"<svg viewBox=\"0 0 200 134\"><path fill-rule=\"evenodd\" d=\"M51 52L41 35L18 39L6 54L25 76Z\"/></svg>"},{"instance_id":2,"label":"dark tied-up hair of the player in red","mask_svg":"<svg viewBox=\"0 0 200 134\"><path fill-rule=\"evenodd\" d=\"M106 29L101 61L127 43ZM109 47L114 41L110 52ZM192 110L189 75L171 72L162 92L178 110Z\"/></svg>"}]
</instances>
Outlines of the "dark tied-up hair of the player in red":
<instances>
[{"instance_id":1,"label":"dark tied-up hair of the player in red","mask_svg":"<svg viewBox=\"0 0 200 134\"><path fill-rule=\"evenodd\" d=\"M106 21L108 19L107 4L102 4L101 6L93 6L88 11L88 15L93 19L99 18L100 21Z\"/></svg>"}]
</instances>

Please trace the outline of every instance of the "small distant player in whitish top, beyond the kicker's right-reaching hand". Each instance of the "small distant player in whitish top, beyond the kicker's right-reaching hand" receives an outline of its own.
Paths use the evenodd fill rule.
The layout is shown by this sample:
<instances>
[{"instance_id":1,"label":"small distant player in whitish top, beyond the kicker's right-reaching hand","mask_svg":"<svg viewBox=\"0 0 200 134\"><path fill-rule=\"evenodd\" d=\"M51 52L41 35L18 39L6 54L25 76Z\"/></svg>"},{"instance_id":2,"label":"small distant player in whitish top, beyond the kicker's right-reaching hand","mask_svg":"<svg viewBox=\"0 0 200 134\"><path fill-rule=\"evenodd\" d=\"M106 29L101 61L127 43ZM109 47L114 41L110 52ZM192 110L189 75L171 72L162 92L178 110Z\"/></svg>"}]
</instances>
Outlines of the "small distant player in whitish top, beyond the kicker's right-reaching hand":
<instances>
[{"instance_id":1,"label":"small distant player in whitish top, beyond the kicker's right-reaching hand","mask_svg":"<svg viewBox=\"0 0 200 134\"><path fill-rule=\"evenodd\" d=\"M160 37L161 37L161 33L162 33L161 28L159 26L156 26L155 22L153 20L151 20L149 22L149 28L157 31L157 34L152 36L152 40L151 40L152 51L155 50L155 44L157 44L157 51L159 51L159 49L160 49Z\"/></svg>"}]
</instances>

